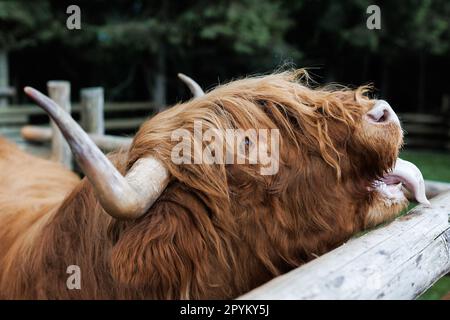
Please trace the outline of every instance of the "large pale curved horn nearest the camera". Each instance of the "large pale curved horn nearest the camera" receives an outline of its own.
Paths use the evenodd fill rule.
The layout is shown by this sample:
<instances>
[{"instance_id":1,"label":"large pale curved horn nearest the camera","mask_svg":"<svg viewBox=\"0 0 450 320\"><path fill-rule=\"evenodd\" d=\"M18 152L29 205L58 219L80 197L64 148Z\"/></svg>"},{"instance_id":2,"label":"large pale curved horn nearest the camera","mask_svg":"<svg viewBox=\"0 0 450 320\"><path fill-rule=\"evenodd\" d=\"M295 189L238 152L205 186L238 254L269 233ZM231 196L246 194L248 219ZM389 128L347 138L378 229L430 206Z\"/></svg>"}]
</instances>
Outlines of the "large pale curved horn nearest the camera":
<instances>
[{"instance_id":1,"label":"large pale curved horn nearest the camera","mask_svg":"<svg viewBox=\"0 0 450 320\"><path fill-rule=\"evenodd\" d=\"M103 209L117 219L136 219L145 214L167 186L166 167L155 158L141 158L123 177L67 112L33 88L24 91L55 121Z\"/></svg>"}]
</instances>

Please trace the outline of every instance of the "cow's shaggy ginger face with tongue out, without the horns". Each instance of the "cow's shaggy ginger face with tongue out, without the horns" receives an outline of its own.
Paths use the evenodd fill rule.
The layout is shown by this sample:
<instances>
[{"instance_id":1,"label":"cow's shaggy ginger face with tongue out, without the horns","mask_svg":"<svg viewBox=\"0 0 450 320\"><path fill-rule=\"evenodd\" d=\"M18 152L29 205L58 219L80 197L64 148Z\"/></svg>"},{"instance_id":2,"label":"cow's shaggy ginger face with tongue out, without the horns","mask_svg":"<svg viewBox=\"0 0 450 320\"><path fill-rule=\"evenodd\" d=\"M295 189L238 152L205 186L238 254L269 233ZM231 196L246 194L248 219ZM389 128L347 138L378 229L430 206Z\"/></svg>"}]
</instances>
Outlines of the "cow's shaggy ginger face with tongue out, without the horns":
<instances>
[{"instance_id":1,"label":"cow's shaggy ginger face with tongue out, without the horns","mask_svg":"<svg viewBox=\"0 0 450 320\"><path fill-rule=\"evenodd\" d=\"M185 129L193 134L195 122L201 121L203 133L211 128L219 133L228 128L241 129L244 136L249 133L235 141L234 150L237 154L246 152L248 161L195 164L192 155L188 163L166 161L169 171L206 194L235 201L232 206L241 213L254 211L255 201L260 201L261 207L277 203L286 214L292 210L293 216L307 216L287 219L299 222L299 226L291 223L293 228L337 233L345 229L343 233L351 233L386 221L404 208L404 187L419 202L428 203L420 171L398 159L403 132L386 101L370 99L366 86L354 90L342 86L311 88L301 83L299 76L304 73L243 79L205 96L197 90L199 98L175 106L142 126L134 144L137 158L149 146L165 159L173 158L175 144L181 141L174 142L173 131ZM256 129L256 135L251 129ZM256 164L248 159L252 149L258 153L262 146L274 148L272 132L268 130L261 139L261 129L279 130L279 144L272 150L279 151L274 174L262 174L264 159ZM168 143L161 144L161 138ZM198 140L193 137L189 141L192 154L196 144L205 153L217 137ZM230 152L225 147L223 157ZM275 161L273 152L268 155ZM274 164L268 161L265 165Z\"/></svg>"}]
</instances>

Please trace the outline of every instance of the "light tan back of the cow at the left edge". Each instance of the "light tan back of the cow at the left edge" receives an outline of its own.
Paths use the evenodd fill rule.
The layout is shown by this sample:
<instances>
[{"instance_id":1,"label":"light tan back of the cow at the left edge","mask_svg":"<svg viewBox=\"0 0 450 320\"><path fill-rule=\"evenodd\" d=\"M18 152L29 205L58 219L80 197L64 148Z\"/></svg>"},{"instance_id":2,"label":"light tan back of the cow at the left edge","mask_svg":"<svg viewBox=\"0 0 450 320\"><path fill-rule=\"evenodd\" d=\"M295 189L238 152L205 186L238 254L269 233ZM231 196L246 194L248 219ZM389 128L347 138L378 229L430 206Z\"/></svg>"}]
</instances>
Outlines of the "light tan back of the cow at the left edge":
<instances>
[{"instance_id":1,"label":"light tan back of the cow at the left edge","mask_svg":"<svg viewBox=\"0 0 450 320\"><path fill-rule=\"evenodd\" d=\"M14 257L28 251L78 182L60 164L27 154L0 137L0 284L6 271L17 267Z\"/></svg>"}]
</instances>

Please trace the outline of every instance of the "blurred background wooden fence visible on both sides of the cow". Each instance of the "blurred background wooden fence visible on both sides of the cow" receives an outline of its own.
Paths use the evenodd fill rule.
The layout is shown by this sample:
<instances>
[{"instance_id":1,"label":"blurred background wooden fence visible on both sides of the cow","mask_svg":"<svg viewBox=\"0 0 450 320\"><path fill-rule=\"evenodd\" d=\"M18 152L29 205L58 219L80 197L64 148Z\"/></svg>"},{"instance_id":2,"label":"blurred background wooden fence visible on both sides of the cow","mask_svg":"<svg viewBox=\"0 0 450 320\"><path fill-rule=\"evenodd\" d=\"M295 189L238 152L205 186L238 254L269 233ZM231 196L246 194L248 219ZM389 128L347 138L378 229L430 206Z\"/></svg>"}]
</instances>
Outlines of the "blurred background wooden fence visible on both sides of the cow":
<instances>
[{"instance_id":1,"label":"blurred background wooden fence visible on both sides of the cow","mask_svg":"<svg viewBox=\"0 0 450 320\"><path fill-rule=\"evenodd\" d=\"M150 102L125 102L125 103L104 103L102 88L86 88L80 92L81 103L70 103L70 83L65 81L49 81L47 84L49 95L56 99L65 109L71 111L75 119L80 119L84 124L85 129L93 135L93 138L98 142L99 146L105 151L110 151L118 146L127 143L127 139L115 139L114 136L105 133L134 133L136 129L160 106L156 106ZM4 92L3 92L4 91ZM15 94L11 88L4 88L0 90L0 97L2 94ZM66 96L60 97L61 94ZM447 105L449 103L443 103ZM101 105L96 107L96 105ZM450 108L450 107L449 107ZM90 114L97 110L97 114ZM103 110L103 115L101 111ZM444 110L445 111L445 110ZM450 150L450 116L447 110L441 114L411 114L400 113L403 129L406 132L405 145L408 148L427 148ZM48 126L42 128L22 127L28 124L33 119L42 117L45 112L35 105L21 105L21 106L3 106L0 107L0 135L9 137L23 148L32 153L41 156L49 156L50 147L53 148L53 157L66 157L63 155L55 155L56 150L59 152L67 152L67 146L64 147L64 142L61 142L62 147L59 147L61 136L58 130L53 127L55 134L51 133ZM85 114L83 116L83 114ZM84 118L84 120L83 120ZM102 122L101 129L88 128L88 123L85 119L98 119L93 121ZM51 136L51 138L49 138ZM129 139L128 139L129 140ZM53 142L53 146L45 144L45 142ZM35 142L37 144L29 144L28 142ZM40 144L39 144L40 143ZM66 150L66 151L64 151Z\"/></svg>"}]
</instances>

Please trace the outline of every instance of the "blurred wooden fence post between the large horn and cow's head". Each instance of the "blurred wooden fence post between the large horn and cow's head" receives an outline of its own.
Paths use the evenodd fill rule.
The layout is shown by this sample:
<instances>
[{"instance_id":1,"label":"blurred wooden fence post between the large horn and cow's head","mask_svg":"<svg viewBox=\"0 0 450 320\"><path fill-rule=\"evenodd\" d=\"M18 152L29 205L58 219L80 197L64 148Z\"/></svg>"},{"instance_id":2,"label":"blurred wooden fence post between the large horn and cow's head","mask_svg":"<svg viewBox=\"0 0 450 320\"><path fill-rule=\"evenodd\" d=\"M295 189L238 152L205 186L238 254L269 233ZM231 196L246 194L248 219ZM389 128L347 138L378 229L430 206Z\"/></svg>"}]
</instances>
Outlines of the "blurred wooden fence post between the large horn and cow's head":
<instances>
[{"instance_id":1,"label":"blurred wooden fence post between the large horn and cow's head","mask_svg":"<svg viewBox=\"0 0 450 320\"><path fill-rule=\"evenodd\" d=\"M102 87L81 89L81 123L88 133L105 133L104 93Z\"/></svg>"}]
</instances>

